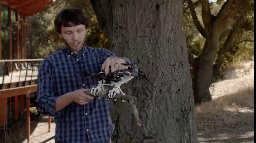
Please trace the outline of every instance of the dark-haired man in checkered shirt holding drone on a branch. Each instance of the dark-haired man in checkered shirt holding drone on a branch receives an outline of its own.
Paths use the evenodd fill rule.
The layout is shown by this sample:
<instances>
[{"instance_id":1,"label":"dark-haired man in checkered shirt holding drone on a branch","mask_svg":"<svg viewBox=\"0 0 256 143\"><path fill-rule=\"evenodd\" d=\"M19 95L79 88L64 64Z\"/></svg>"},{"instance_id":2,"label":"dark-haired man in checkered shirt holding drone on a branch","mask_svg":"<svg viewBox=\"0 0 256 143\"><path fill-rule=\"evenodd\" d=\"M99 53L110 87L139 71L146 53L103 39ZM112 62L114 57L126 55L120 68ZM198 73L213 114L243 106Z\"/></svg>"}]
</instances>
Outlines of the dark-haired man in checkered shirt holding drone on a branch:
<instances>
[{"instance_id":1,"label":"dark-haired man in checkered shirt holding drone on a branch","mask_svg":"<svg viewBox=\"0 0 256 143\"><path fill-rule=\"evenodd\" d=\"M127 66L121 63L134 63L104 48L85 46L88 21L79 9L62 10L54 26L65 46L44 58L39 70L38 110L55 117L55 141L58 143L111 142L114 125L108 100L86 94L97 85L98 80L91 74L101 69L108 74L109 67L111 72L124 70ZM137 66L134 67L132 76L138 74Z\"/></svg>"}]
</instances>

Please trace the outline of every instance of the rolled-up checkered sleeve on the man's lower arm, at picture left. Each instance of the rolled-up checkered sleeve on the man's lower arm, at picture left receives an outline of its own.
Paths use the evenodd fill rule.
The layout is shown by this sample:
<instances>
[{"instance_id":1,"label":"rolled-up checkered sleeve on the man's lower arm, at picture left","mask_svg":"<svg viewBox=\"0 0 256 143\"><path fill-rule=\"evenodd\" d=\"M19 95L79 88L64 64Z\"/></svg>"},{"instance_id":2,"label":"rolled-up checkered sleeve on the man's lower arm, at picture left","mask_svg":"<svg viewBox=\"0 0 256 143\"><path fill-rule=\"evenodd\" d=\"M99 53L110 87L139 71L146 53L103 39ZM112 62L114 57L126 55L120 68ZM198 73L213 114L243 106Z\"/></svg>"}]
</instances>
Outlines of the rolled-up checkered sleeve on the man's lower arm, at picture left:
<instances>
[{"instance_id":1,"label":"rolled-up checkered sleeve on the man's lower arm, at picture left","mask_svg":"<svg viewBox=\"0 0 256 143\"><path fill-rule=\"evenodd\" d=\"M37 109L43 115L59 116L61 110L55 111L55 102L58 97L54 94L52 66L48 59L41 62L37 79Z\"/></svg>"}]
</instances>

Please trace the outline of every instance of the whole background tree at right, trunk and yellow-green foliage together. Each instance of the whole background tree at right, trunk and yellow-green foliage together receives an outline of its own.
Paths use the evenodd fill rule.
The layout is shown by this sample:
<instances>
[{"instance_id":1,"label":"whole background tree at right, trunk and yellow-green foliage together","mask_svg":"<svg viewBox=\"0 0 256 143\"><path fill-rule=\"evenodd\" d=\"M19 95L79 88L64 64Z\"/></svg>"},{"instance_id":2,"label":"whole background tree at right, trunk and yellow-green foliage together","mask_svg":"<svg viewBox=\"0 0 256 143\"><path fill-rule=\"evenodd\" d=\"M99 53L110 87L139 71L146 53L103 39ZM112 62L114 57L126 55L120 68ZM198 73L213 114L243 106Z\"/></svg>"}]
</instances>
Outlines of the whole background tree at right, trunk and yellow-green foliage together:
<instances>
[{"instance_id":1,"label":"whole background tree at right, trunk and yellow-green foliage together","mask_svg":"<svg viewBox=\"0 0 256 143\"><path fill-rule=\"evenodd\" d=\"M198 14L198 11L201 14ZM254 1L218 0L210 3L208 0L194 2L186 0L184 13L187 16L187 20L193 22L198 32L200 32L200 34L195 35L198 32L192 30L191 23L186 23L189 24L189 26L185 26L186 30L188 30L186 32L187 35L193 33L190 35L191 37L187 36L187 41L199 41L194 43L195 45L190 44L193 42L188 42L188 48L190 53L189 62L192 67L194 99L196 103L200 103L211 100L210 84L213 82L214 77L219 74L219 70L228 55L232 51L232 55L239 51L239 48L234 48L233 41L237 34L248 33L246 31L247 27L242 27L246 21L248 23L249 18L254 18ZM251 21L250 24L252 25ZM252 30L252 27L249 29ZM197 39L194 37L197 37ZM245 39L249 37L252 37L252 35L243 36ZM237 41L242 42L244 41L243 38L240 37L240 40L237 39ZM247 39L247 41L249 40ZM197 47L195 48L195 46ZM193 57L192 54L195 56Z\"/></svg>"}]
</instances>

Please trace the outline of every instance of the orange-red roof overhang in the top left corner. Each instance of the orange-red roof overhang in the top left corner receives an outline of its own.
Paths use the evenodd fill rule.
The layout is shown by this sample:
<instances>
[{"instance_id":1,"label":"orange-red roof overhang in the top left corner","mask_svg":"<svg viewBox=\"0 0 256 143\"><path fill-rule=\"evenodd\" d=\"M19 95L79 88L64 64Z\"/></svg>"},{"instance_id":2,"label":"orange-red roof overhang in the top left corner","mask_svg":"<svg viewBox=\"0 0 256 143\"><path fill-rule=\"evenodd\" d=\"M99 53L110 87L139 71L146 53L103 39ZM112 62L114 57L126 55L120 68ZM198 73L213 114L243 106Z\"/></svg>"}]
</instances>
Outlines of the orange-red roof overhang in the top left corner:
<instances>
[{"instance_id":1,"label":"orange-red roof overhang in the top left corner","mask_svg":"<svg viewBox=\"0 0 256 143\"><path fill-rule=\"evenodd\" d=\"M52 0L1 0L0 3L17 9L26 16L37 14L54 5Z\"/></svg>"}]
</instances>

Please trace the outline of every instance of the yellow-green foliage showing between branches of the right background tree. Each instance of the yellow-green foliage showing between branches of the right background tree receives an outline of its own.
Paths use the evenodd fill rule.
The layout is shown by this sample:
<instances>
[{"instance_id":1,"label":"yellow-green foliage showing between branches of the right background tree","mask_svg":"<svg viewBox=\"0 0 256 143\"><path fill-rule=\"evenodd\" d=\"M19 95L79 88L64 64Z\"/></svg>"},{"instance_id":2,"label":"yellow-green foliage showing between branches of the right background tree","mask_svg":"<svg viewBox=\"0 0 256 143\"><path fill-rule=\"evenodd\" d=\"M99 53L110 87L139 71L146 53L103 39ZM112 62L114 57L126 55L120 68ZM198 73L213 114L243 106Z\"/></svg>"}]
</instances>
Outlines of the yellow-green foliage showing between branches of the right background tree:
<instances>
[{"instance_id":1,"label":"yellow-green foliage showing between branches of the right background tree","mask_svg":"<svg viewBox=\"0 0 256 143\"><path fill-rule=\"evenodd\" d=\"M224 3L225 1L222 0L210 3L211 14L216 16ZM198 16L198 20L200 21L201 25L204 25L201 18L202 6L200 2L193 1L193 4ZM254 6L254 1L251 1L250 4ZM241 62L254 57L254 8L252 8L252 6L248 6L248 9L249 11L246 14L246 18L232 42L233 46L231 50L229 50L224 56L225 60L222 64L222 69L225 69L228 63ZM204 48L205 38L195 27L187 1L184 1L183 3L183 15L189 53L199 56ZM235 21L230 21L230 25L234 24L234 22ZM231 30L232 26L228 27L227 30L221 35L219 48L222 48Z\"/></svg>"}]
</instances>

